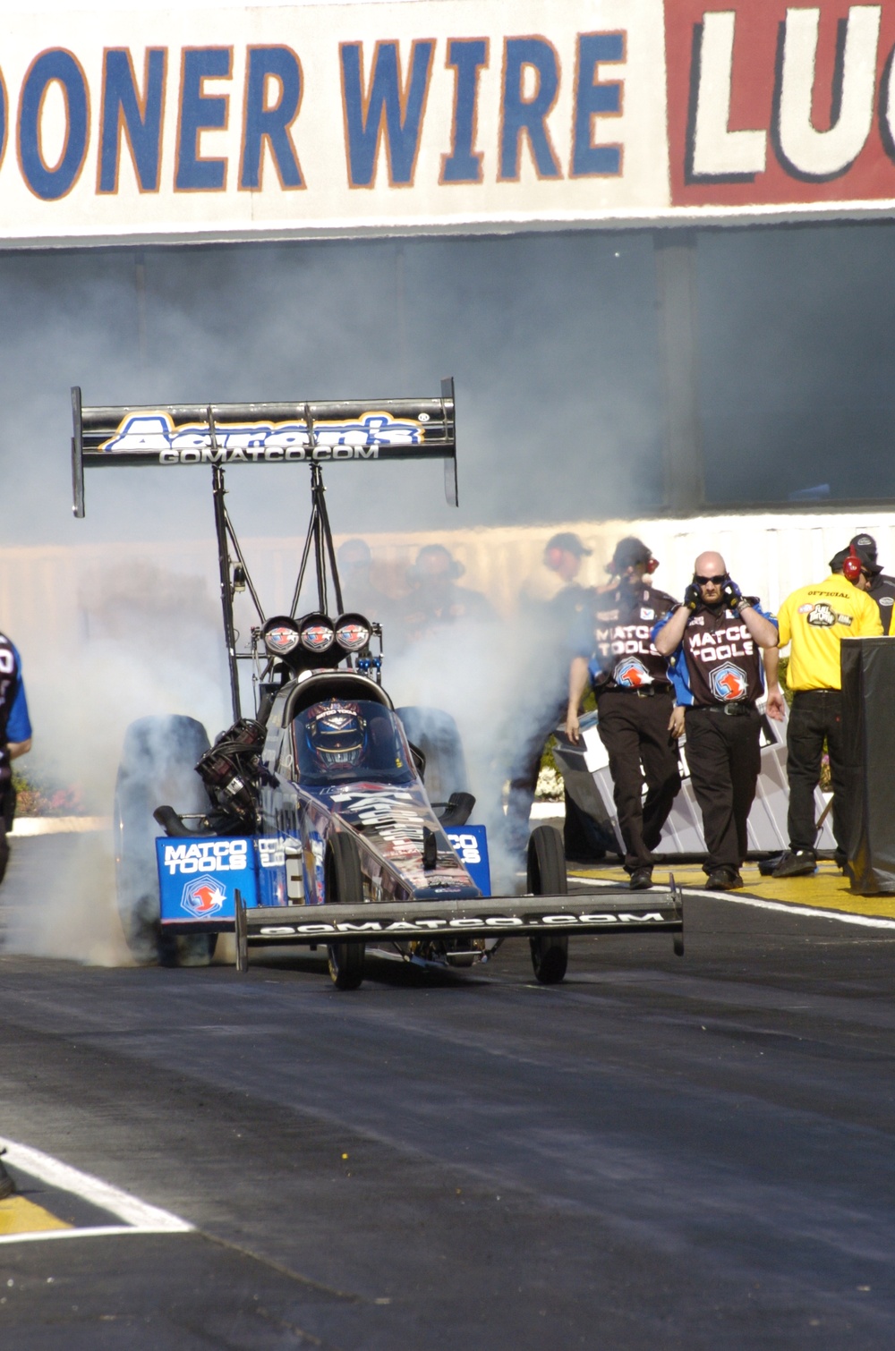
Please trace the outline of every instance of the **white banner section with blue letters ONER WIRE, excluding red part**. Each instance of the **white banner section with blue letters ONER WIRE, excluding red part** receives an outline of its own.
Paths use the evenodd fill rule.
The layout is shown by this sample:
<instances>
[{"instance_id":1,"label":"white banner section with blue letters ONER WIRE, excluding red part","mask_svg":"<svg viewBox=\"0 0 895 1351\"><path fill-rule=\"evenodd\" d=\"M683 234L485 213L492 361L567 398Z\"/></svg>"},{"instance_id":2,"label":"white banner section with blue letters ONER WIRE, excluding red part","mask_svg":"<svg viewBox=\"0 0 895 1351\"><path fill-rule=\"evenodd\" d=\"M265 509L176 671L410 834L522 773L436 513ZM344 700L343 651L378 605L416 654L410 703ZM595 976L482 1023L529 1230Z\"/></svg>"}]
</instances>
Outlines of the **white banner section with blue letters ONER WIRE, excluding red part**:
<instances>
[{"instance_id":1,"label":"white banner section with blue letters ONER WIRE, excluding red part","mask_svg":"<svg viewBox=\"0 0 895 1351\"><path fill-rule=\"evenodd\" d=\"M464 230L668 199L661 0L3 24L0 238Z\"/></svg>"}]
</instances>

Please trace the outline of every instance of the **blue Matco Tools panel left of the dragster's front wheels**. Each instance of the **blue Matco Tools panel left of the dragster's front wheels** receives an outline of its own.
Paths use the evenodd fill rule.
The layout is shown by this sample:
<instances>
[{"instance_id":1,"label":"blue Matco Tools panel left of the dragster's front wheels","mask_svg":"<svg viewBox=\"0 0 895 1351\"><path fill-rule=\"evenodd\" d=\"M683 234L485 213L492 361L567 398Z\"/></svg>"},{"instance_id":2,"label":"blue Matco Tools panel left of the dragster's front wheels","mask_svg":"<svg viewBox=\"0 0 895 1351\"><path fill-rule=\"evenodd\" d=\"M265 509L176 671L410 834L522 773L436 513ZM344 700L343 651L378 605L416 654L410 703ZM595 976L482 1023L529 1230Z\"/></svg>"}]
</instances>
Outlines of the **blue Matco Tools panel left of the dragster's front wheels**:
<instances>
[{"instance_id":1,"label":"blue Matco Tools panel left of the dragster's front wheels","mask_svg":"<svg viewBox=\"0 0 895 1351\"><path fill-rule=\"evenodd\" d=\"M230 927L237 890L258 904L256 842L245 835L157 839L162 924Z\"/></svg>"}]
</instances>

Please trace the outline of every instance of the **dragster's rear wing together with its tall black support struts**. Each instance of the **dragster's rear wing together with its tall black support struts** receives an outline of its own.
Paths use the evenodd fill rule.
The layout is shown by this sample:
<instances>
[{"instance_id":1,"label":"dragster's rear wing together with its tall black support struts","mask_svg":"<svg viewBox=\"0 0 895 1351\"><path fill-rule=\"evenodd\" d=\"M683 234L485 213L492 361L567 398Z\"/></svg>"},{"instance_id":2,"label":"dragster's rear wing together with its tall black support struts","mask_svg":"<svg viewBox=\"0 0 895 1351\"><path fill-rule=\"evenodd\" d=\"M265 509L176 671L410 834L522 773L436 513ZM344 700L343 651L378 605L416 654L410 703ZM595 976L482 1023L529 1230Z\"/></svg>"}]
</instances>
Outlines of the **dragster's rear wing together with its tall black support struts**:
<instances>
[{"instance_id":1,"label":"dragster's rear wing together with its tall black support struts","mask_svg":"<svg viewBox=\"0 0 895 1351\"><path fill-rule=\"evenodd\" d=\"M448 505L458 505L453 378L442 380L441 396L435 399L153 404L127 408L85 408L76 385L72 389L72 511L78 519L84 516L85 469L211 465L220 604L234 719L242 716L237 662L251 657L250 653L237 653L233 621L234 557L261 626L265 623L265 613L227 512L227 465L287 462L304 463L311 469L311 520L292 594L289 613L293 619L311 558L322 613L327 613L327 567L335 604L338 612L342 612L342 588L326 509L324 463L345 459L443 459Z\"/></svg>"}]
</instances>

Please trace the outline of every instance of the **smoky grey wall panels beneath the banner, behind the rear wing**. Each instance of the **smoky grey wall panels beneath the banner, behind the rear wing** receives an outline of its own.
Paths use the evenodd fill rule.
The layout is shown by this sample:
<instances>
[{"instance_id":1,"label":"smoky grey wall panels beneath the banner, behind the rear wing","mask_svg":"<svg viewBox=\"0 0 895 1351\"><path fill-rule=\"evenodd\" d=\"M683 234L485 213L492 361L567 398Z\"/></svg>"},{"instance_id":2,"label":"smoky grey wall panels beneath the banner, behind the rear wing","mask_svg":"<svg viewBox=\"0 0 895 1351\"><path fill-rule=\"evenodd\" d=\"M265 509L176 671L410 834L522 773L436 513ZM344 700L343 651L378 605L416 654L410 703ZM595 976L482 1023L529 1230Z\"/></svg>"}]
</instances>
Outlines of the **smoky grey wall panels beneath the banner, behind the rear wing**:
<instances>
[{"instance_id":1,"label":"smoky grey wall panels beneath the banner, behind the rear wing","mask_svg":"<svg viewBox=\"0 0 895 1351\"><path fill-rule=\"evenodd\" d=\"M699 234L710 503L895 497L894 261L887 224ZM338 466L337 528L648 513L657 334L649 231L0 255L0 543L210 536L201 470L89 476L72 521L72 384L168 403L434 393L454 374L460 513L439 466ZM233 471L238 523L303 528L303 474Z\"/></svg>"}]
</instances>

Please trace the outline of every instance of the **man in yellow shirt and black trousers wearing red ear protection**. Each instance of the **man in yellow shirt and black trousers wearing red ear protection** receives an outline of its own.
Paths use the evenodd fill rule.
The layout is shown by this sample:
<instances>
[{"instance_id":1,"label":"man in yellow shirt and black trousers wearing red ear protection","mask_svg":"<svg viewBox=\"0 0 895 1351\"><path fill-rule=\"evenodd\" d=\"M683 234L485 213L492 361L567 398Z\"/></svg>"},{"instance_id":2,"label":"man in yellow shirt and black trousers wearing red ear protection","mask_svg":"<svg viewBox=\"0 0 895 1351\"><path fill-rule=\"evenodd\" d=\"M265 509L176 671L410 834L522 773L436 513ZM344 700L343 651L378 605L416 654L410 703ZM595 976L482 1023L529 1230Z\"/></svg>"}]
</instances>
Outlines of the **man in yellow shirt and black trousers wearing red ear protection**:
<instances>
[{"instance_id":1,"label":"man in yellow shirt and black trousers wearing red ear protection","mask_svg":"<svg viewBox=\"0 0 895 1351\"><path fill-rule=\"evenodd\" d=\"M836 861L840 867L848 863L840 648L844 638L883 635L879 608L868 594L875 566L868 554L852 544L830 559L826 581L800 586L780 607L780 647L792 644L787 685L794 693L787 723L790 848L775 867L773 877L806 877L815 870L814 790L821 782L825 742L833 778ZM777 653L765 653L768 715L783 719L785 700L777 681Z\"/></svg>"}]
</instances>

